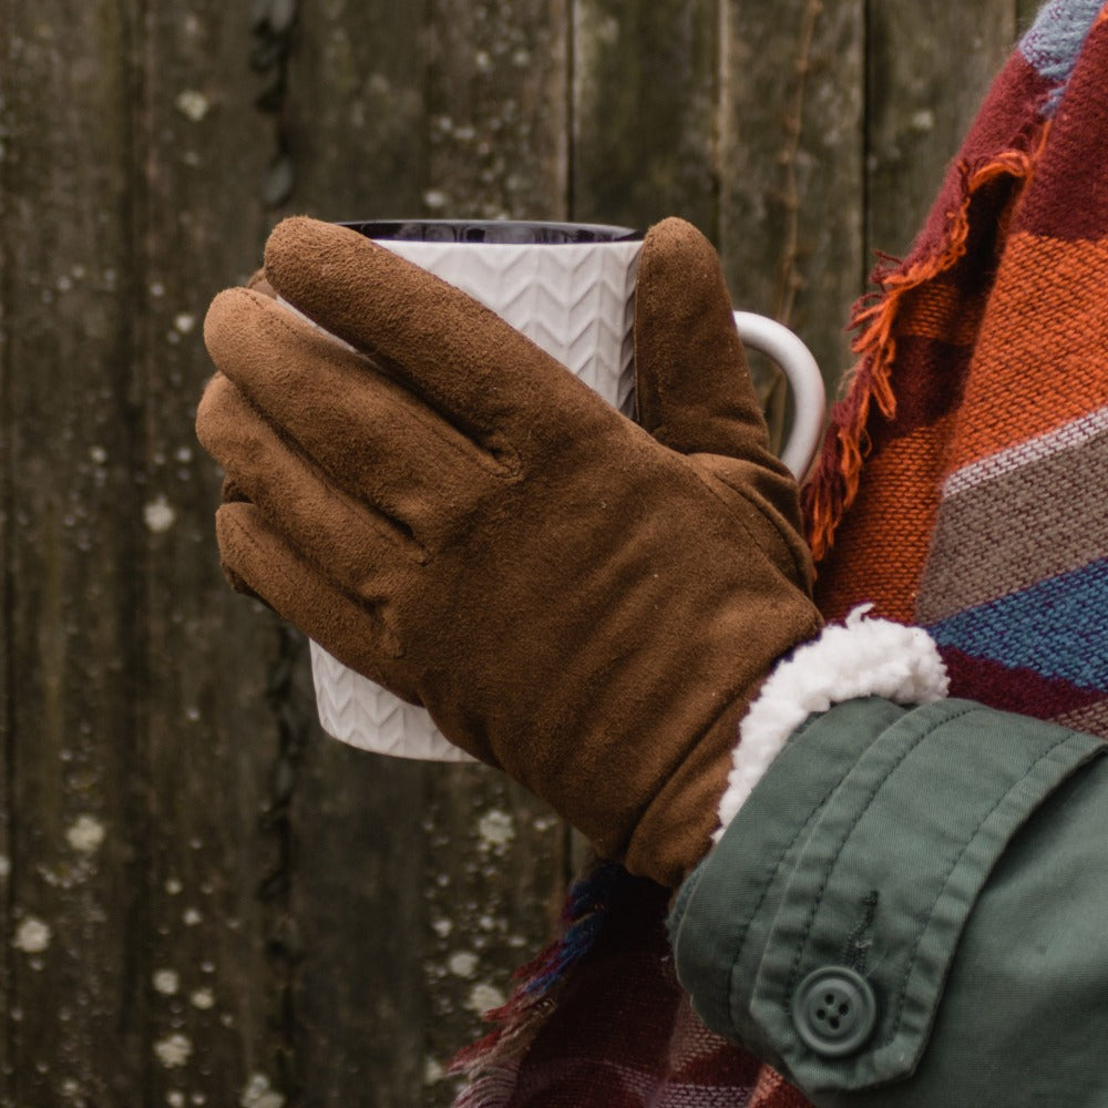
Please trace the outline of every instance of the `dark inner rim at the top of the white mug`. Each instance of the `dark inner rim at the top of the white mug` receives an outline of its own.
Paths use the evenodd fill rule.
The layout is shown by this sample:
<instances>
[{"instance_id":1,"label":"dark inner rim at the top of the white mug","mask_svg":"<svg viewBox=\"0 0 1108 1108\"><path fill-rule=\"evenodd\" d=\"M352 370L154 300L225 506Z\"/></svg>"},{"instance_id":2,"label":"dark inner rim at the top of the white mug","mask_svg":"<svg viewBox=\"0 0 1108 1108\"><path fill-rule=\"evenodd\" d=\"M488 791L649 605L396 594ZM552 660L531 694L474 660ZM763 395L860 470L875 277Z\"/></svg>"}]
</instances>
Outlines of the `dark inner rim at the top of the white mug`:
<instances>
[{"instance_id":1,"label":"dark inner rim at the top of the white mug","mask_svg":"<svg viewBox=\"0 0 1108 1108\"><path fill-rule=\"evenodd\" d=\"M633 227L552 219L349 219L340 220L339 226L384 242L572 246L643 238L643 233Z\"/></svg>"}]
</instances>

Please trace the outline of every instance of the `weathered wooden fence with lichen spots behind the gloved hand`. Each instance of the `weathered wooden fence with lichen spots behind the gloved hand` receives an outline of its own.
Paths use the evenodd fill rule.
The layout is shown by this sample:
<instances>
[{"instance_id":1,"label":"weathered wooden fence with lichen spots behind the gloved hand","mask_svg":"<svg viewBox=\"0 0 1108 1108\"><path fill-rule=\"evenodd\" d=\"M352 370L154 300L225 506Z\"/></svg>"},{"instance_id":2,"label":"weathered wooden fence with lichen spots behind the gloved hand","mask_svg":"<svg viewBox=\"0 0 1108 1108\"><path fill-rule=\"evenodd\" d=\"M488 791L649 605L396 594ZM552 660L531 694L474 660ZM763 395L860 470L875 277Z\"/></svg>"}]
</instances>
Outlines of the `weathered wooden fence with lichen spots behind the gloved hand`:
<instances>
[{"instance_id":1,"label":"weathered wooden fence with lichen spots behind the gloved hand","mask_svg":"<svg viewBox=\"0 0 1108 1108\"><path fill-rule=\"evenodd\" d=\"M325 739L199 337L283 213L680 214L829 377L1032 3L0 0L0 1105L411 1106L573 848Z\"/></svg>"}]
</instances>

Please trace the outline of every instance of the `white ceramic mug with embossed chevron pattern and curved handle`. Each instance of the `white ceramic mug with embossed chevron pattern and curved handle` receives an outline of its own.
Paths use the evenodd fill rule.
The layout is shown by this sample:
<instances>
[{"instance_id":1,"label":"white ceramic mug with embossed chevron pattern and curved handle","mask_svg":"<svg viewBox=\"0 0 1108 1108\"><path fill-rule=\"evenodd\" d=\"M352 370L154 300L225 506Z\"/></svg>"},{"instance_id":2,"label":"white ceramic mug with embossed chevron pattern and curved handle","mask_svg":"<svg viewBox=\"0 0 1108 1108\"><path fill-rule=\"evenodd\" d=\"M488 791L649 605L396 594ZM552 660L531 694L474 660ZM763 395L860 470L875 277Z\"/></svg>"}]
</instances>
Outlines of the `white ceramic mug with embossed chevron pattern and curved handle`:
<instances>
[{"instance_id":1,"label":"white ceramic mug with embossed chevron pattern and curved handle","mask_svg":"<svg viewBox=\"0 0 1108 1108\"><path fill-rule=\"evenodd\" d=\"M635 277L642 236L623 227L512 220L360 223L361 232L455 285L568 367L608 403L634 413ZM819 367L788 328L736 311L742 341L784 371L794 417L781 460L802 476L823 429ZM319 720L363 750L429 761L471 761L423 708L311 644Z\"/></svg>"}]
</instances>

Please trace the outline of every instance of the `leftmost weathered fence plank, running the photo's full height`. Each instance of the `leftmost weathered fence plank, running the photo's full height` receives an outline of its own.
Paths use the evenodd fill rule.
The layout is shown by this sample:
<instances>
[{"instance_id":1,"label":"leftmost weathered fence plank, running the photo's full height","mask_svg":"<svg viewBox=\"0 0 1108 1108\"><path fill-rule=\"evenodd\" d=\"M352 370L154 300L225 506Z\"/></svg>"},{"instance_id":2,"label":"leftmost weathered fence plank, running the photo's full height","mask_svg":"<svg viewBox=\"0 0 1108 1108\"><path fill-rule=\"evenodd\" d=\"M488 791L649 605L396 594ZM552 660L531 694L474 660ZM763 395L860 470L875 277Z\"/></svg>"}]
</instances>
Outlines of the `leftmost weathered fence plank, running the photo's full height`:
<instances>
[{"instance_id":1,"label":"leftmost weathered fence plank, running the photo's full height","mask_svg":"<svg viewBox=\"0 0 1108 1108\"><path fill-rule=\"evenodd\" d=\"M134 17L50 0L2 14L14 1104L144 1092Z\"/></svg>"}]
</instances>

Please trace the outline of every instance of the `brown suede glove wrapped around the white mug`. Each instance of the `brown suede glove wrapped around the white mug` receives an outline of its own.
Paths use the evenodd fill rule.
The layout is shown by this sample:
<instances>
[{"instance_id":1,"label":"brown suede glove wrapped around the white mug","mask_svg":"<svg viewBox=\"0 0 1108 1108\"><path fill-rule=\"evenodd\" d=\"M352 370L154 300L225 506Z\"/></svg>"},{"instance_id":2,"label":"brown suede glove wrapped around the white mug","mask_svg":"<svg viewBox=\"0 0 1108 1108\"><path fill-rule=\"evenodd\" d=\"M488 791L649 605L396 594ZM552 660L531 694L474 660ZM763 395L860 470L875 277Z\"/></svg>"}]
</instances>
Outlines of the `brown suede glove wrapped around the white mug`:
<instances>
[{"instance_id":1,"label":"brown suede glove wrapped around the white mug","mask_svg":"<svg viewBox=\"0 0 1108 1108\"><path fill-rule=\"evenodd\" d=\"M640 427L355 232L286 220L266 273L355 349L246 289L212 305L197 430L247 497L217 514L232 582L676 885L751 697L820 628L711 246L646 237Z\"/></svg>"}]
</instances>

